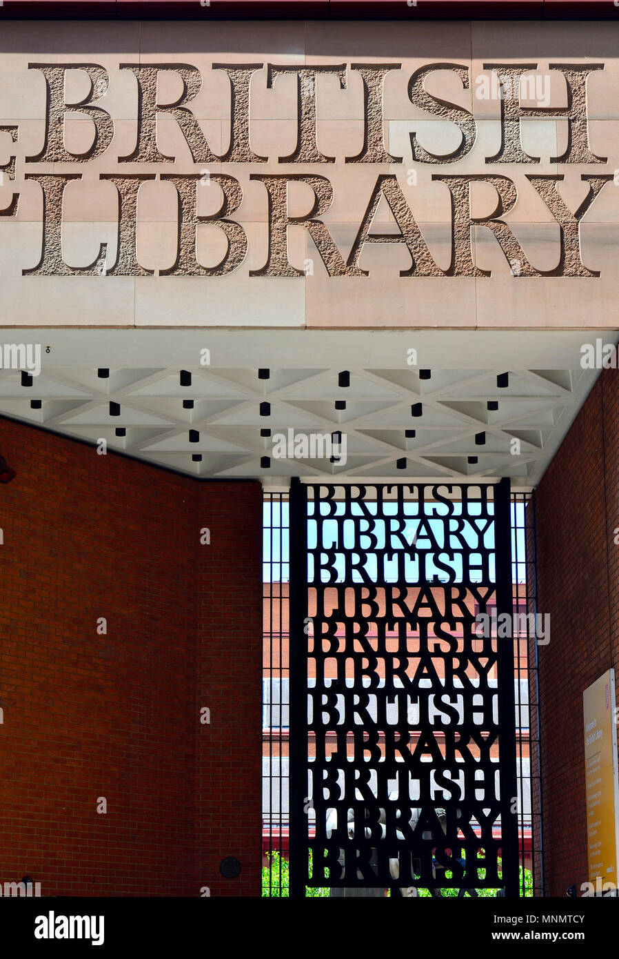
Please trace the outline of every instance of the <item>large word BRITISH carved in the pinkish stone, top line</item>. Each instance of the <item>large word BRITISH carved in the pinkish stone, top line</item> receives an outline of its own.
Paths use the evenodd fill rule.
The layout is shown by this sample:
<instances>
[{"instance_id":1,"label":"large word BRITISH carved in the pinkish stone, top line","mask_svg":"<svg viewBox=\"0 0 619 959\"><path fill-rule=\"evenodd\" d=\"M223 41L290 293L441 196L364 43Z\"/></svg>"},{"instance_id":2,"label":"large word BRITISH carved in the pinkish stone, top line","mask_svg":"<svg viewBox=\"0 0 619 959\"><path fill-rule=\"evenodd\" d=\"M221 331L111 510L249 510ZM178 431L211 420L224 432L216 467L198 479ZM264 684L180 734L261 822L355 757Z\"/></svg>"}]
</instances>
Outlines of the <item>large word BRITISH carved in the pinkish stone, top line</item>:
<instances>
[{"instance_id":1,"label":"large word BRITISH carved in the pinkish stone, top line","mask_svg":"<svg viewBox=\"0 0 619 959\"><path fill-rule=\"evenodd\" d=\"M98 63L30 63L30 69L39 70L45 78L47 91L45 138L42 149L27 157L29 162L58 163L84 162L101 156L107 151L114 135L114 119L101 105L108 92L109 75ZM504 92L513 85L519 88L523 78L537 71L537 63L523 65L485 63L485 70L498 78L497 98L500 104L502 143L499 152L486 157L490 163L539 163L539 157L524 151L520 141L519 121L531 117L561 117L567 121L567 144L561 155L551 157L551 163L605 163L606 158L591 152L586 129L586 80L603 63L551 63L550 70L561 73L566 87L567 106L550 107L521 105L518 98L506 97ZM68 70L83 71L90 90L79 103L67 104L64 97L65 74ZM250 83L258 71L264 71L264 63L214 63L213 71L222 70L230 81L230 99L222 112L230 118L230 143L228 149L217 154L208 144L190 104L202 89L203 77L197 67L188 63L120 63L119 70L130 71L137 83L136 145L126 156L118 157L122 163L172 163L175 159L159 150L156 121L159 116L171 116L179 128L195 163L265 163L267 157L258 155L250 147L251 102ZM455 124L462 133L462 142L457 150L439 155L424 150L411 131L410 140L413 160L423 163L454 163L470 152L477 137L477 124L473 113L467 108L432 96L424 88L427 77L436 71L451 71L459 79L463 90L470 90L470 68L454 63L428 63L415 70L406 84L411 104L420 107L432 116ZM351 75L358 73L363 89L363 147L347 163L400 163L402 157L393 156L383 142L383 83L392 71L401 71L400 63L350 64ZM497 73L500 71L500 74ZM296 77L296 128L295 149L280 156L281 163L334 163L335 158L320 151L316 136L316 79L332 76L340 89L348 89L345 63L320 66L280 66L266 64L266 89L272 89L278 78L286 75ZM172 104L161 104L157 99L157 83L161 75L175 74L182 83L182 94ZM548 76L546 73L545 76ZM403 75L402 75L403 81ZM86 152L68 151L63 142L63 123L67 114L85 114L95 128L91 146Z\"/></svg>"}]
</instances>

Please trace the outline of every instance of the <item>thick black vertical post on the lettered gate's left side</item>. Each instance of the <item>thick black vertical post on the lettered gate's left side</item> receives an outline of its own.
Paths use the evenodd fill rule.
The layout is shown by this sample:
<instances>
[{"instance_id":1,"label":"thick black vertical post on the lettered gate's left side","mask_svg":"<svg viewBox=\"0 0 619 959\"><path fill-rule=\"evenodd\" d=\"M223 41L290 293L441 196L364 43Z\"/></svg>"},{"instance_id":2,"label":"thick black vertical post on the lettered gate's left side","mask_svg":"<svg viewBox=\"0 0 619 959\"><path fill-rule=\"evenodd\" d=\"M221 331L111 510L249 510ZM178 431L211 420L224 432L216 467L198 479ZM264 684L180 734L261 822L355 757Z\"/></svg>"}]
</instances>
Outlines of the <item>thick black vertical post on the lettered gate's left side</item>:
<instances>
[{"instance_id":1,"label":"thick black vertical post on the lettered gate's left side","mask_svg":"<svg viewBox=\"0 0 619 959\"><path fill-rule=\"evenodd\" d=\"M305 897L308 869L308 672L304 631L308 615L308 487L297 477L289 495L289 613L288 613L288 763L289 808L288 880L290 898Z\"/></svg>"}]
</instances>

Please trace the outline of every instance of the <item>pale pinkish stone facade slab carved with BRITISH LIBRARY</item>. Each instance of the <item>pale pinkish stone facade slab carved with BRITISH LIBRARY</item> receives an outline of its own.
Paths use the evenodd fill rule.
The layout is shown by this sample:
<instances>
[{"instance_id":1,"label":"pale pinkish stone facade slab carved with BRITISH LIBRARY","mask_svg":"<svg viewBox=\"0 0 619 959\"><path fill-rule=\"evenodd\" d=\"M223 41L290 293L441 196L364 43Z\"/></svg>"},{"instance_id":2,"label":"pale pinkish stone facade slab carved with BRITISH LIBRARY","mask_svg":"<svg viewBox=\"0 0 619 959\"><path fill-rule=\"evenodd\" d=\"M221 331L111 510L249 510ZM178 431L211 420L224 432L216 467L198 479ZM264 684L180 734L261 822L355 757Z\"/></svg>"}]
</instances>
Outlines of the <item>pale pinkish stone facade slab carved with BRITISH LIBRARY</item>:
<instances>
[{"instance_id":1,"label":"pale pinkish stone facade slab carved with BRITISH LIBRARY","mask_svg":"<svg viewBox=\"0 0 619 959\"><path fill-rule=\"evenodd\" d=\"M612 328L618 29L9 22L4 324Z\"/></svg>"}]
</instances>

